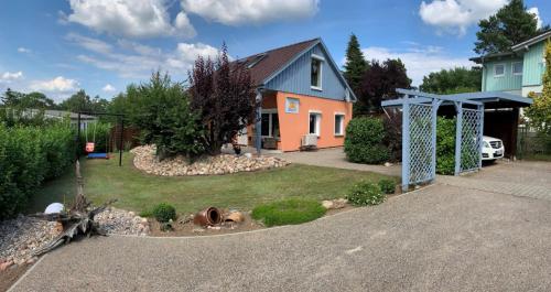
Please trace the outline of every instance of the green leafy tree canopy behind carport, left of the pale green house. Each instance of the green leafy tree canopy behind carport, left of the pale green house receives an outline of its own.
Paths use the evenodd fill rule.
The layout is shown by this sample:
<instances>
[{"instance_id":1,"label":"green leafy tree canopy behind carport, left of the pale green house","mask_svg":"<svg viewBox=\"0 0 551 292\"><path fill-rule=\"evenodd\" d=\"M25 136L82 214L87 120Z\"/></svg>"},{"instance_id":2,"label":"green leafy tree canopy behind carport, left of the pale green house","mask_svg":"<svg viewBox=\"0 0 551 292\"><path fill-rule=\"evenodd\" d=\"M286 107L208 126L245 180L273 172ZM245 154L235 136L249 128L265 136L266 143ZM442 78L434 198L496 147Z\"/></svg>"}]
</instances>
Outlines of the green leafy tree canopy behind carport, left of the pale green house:
<instances>
[{"instance_id":1,"label":"green leafy tree canopy behind carport, left of the pale green house","mask_svg":"<svg viewBox=\"0 0 551 292\"><path fill-rule=\"evenodd\" d=\"M467 69L456 67L453 69L442 69L433 72L423 77L421 91L450 95L479 91L482 88L482 71L479 67Z\"/></svg>"}]
</instances>

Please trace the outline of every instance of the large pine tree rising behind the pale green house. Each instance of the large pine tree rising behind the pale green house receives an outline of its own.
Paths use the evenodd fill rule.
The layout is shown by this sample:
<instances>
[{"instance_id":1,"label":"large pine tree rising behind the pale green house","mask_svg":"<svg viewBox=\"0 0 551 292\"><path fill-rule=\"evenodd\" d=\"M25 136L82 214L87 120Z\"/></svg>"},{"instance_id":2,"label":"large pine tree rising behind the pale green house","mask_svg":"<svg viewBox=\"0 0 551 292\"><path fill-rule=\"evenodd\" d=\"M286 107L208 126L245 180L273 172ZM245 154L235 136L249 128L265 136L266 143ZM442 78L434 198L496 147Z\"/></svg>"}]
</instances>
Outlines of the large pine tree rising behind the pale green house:
<instances>
[{"instance_id":1,"label":"large pine tree rising behind the pale green house","mask_svg":"<svg viewBox=\"0 0 551 292\"><path fill-rule=\"evenodd\" d=\"M479 55L507 52L539 33L536 15L526 11L522 0L511 0L478 26L474 51Z\"/></svg>"}]
</instances>

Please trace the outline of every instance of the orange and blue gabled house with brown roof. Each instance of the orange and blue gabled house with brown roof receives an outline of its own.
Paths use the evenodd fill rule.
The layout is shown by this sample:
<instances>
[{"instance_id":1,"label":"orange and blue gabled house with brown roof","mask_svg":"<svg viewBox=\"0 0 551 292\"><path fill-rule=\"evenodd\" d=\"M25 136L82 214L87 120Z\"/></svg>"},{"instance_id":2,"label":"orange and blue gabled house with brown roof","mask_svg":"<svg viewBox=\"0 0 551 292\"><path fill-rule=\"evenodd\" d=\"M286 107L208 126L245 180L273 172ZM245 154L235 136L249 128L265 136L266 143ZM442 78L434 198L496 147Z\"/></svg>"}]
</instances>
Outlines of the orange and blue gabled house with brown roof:
<instances>
[{"instance_id":1,"label":"orange and blue gabled house with brown roof","mask_svg":"<svg viewBox=\"0 0 551 292\"><path fill-rule=\"evenodd\" d=\"M321 39L255 54L247 66L261 100L241 144L298 151L305 143L342 147L356 96Z\"/></svg>"}]
</instances>

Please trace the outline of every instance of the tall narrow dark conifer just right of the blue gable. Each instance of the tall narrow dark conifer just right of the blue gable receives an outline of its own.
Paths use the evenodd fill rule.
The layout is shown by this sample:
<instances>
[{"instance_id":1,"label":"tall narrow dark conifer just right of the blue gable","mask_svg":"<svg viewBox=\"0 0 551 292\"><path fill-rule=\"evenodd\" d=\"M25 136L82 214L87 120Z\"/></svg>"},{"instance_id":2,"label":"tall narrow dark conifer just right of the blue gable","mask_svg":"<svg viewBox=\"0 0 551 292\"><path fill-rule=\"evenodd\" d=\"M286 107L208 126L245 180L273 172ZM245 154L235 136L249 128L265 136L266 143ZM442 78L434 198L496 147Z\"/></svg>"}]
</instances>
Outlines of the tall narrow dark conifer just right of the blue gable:
<instances>
[{"instance_id":1,"label":"tall narrow dark conifer just right of the blue gable","mask_svg":"<svg viewBox=\"0 0 551 292\"><path fill-rule=\"evenodd\" d=\"M344 65L345 72L344 76L350 85L354 94L359 95L361 88L361 79L368 64L364 58L364 53L359 47L359 42L356 35L350 34L350 40L348 41L348 47L346 48L346 63Z\"/></svg>"}]
</instances>

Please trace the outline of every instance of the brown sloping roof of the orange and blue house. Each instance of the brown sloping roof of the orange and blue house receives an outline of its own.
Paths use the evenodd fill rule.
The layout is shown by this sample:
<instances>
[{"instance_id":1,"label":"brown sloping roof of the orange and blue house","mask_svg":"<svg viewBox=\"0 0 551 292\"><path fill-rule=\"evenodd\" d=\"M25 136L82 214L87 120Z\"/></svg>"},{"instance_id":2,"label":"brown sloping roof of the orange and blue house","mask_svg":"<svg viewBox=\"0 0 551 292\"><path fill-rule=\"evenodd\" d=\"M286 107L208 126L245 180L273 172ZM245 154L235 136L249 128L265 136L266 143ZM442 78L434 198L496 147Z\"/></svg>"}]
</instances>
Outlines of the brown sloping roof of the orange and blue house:
<instances>
[{"instance_id":1,"label":"brown sloping roof of the orange and blue house","mask_svg":"<svg viewBox=\"0 0 551 292\"><path fill-rule=\"evenodd\" d=\"M250 69L250 77L252 78L255 85L261 85L263 80L266 80L266 78L283 68L296 55L312 47L318 42L320 39L313 39L273 48L260 54L250 55L236 62L247 66Z\"/></svg>"}]
</instances>

